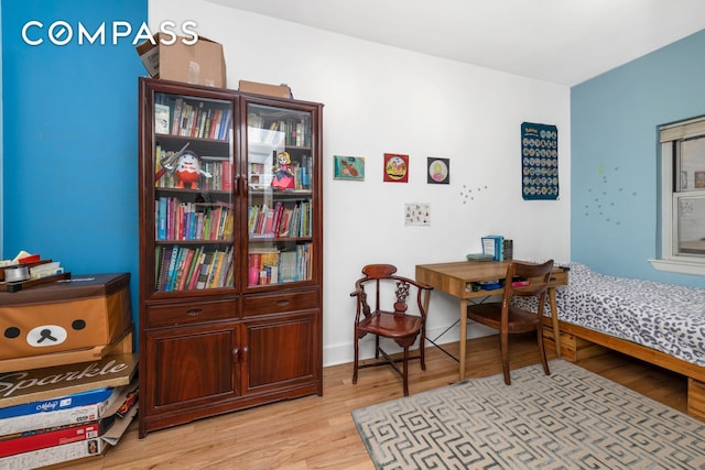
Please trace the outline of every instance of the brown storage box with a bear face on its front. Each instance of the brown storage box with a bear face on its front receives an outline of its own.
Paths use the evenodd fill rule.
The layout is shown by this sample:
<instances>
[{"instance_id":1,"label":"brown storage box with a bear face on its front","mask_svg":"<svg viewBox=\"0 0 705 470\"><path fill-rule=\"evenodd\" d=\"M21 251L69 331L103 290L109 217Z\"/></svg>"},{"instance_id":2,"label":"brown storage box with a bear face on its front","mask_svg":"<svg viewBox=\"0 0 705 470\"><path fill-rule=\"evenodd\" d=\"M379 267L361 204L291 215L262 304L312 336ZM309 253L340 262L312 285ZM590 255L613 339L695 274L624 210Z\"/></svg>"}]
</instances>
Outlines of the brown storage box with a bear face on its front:
<instances>
[{"instance_id":1,"label":"brown storage box with a bear face on its front","mask_svg":"<svg viewBox=\"0 0 705 470\"><path fill-rule=\"evenodd\" d=\"M108 345L132 325L130 274L86 274L0 292L0 360Z\"/></svg>"}]
</instances>

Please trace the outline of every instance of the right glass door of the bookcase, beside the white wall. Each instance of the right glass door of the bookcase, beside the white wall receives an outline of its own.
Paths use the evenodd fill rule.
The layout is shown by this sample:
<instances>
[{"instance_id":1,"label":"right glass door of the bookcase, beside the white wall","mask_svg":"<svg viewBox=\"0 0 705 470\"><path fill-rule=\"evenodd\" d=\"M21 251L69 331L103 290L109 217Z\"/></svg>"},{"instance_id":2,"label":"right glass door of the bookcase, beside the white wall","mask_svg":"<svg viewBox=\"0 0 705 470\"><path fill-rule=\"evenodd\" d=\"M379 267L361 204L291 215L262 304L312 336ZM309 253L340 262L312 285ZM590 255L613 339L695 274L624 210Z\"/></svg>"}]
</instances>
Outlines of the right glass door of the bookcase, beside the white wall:
<instances>
[{"instance_id":1,"label":"right glass door of the bookcase, beside the white wall","mask_svg":"<svg viewBox=\"0 0 705 470\"><path fill-rule=\"evenodd\" d=\"M249 287L313 276L312 113L247 103Z\"/></svg>"}]
</instances>

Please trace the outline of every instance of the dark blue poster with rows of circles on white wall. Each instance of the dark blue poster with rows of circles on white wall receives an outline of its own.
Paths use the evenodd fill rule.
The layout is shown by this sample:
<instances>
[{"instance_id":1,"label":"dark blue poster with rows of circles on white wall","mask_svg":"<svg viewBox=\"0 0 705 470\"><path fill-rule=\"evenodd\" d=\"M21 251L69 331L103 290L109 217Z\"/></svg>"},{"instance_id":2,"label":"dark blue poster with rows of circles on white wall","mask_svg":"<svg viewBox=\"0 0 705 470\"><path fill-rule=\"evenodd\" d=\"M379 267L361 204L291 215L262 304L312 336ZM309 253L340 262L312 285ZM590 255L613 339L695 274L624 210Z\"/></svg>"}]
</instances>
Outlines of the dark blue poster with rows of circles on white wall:
<instances>
[{"instance_id":1,"label":"dark blue poster with rows of circles on white wall","mask_svg":"<svg viewBox=\"0 0 705 470\"><path fill-rule=\"evenodd\" d=\"M558 198L558 129L521 123L521 192L527 200Z\"/></svg>"}]
</instances>

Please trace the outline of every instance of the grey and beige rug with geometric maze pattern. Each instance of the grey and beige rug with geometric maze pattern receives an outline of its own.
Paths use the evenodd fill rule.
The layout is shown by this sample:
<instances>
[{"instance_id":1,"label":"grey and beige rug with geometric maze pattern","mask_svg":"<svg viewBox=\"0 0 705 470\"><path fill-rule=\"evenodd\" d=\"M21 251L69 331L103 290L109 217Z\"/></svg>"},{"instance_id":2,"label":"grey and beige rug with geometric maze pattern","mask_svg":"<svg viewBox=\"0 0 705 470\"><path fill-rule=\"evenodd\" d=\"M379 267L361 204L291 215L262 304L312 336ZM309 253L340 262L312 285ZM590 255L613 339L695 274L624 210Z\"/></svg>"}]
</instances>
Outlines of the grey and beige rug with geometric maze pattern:
<instances>
[{"instance_id":1,"label":"grey and beige rug with geometric maze pattern","mask_svg":"<svg viewBox=\"0 0 705 470\"><path fill-rule=\"evenodd\" d=\"M705 469L705 423L563 359L352 411L377 469Z\"/></svg>"}]
</instances>

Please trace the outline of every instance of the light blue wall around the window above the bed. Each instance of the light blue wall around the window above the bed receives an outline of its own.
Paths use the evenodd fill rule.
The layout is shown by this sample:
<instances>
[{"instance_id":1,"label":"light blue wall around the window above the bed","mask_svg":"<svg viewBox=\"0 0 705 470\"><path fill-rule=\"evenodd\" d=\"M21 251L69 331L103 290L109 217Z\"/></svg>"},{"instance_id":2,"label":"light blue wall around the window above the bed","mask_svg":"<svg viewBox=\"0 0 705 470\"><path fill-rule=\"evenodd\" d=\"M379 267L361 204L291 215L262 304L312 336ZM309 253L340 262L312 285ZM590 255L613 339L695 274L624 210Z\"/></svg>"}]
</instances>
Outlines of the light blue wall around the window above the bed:
<instances>
[{"instance_id":1,"label":"light blue wall around the window above the bed","mask_svg":"<svg viewBox=\"0 0 705 470\"><path fill-rule=\"evenodd\" d=\"M705 30L571 89L571 258L595 271L702 286L657 271L658 127L705 114Z\"/></svg>"}]
</instances>

